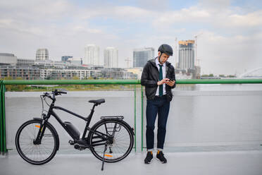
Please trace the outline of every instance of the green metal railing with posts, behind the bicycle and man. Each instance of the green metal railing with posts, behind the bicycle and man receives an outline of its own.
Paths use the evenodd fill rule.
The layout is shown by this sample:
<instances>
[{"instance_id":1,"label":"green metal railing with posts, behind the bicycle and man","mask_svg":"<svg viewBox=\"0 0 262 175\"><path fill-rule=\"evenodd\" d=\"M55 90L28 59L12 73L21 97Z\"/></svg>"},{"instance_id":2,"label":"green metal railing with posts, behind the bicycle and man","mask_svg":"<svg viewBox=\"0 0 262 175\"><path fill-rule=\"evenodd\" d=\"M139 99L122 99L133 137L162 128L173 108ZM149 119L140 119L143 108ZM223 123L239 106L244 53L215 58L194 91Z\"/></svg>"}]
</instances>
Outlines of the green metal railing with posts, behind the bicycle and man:
<instances>
[{"instance_id":1,"label":"green metal railing with posts, behind the bicycle and man","mask_svg":"<svg viewBox=\"0 0 262 175\"><path fill-rule=\"evenodd\" d=\"M135 103L135 133L137 131L137 90L140 80L0 80L0 152L7 152L6 149L6 119L5 119L5 92L6 85L134 85L134 103ZM177 80L177 84L242 84L242 83L262 83L262 79L197 79L197 80ZM141 87L141 130L142 130L142 150L143 144L143 114L144 99L143 87ZM135 135L135 150L137 150L137 137Z\"/></svg>"}]
</instances>

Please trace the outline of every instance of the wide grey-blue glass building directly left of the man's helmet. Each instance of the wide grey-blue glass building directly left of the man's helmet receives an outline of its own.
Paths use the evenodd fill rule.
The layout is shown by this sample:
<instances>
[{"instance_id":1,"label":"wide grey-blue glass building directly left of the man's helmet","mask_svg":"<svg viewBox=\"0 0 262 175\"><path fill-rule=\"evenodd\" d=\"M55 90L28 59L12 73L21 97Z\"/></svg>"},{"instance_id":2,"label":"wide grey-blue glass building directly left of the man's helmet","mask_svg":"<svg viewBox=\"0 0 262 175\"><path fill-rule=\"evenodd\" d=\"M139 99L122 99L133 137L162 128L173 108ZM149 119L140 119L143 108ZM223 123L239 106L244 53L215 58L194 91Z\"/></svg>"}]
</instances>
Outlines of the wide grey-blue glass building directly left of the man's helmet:
<instances>
[{"instance_id":1,"label":"wide grey-blue glass building directly left of the man's helmet","mask_svg":"<svg viewBox=\"0 0 262 175\"><path fill-rule=\"evenodd\" d=\"M153 47L144 47L134 49L133 51L133 67L144 67L146 61L154 58L155 49Z\"/></svg>"}]
</instances>

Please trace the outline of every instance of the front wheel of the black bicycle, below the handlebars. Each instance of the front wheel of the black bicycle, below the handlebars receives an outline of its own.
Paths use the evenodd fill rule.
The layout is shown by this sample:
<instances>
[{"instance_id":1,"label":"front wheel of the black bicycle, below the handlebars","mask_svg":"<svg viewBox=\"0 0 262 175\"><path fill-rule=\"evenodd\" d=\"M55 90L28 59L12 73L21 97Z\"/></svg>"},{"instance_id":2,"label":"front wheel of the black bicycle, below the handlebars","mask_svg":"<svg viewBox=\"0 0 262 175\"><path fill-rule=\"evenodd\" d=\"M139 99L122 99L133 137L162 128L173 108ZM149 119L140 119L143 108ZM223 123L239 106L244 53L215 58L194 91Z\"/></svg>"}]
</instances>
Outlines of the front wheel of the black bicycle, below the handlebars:
<instances>
[{"instance_id":1,"label":"front wheel of the black bicycle, below the handlebars","mask_svg":"<svg viewBox=\"0 0 262 175\"><path fill-rule=\"evenodd\" d=\"M41 120L30 120L23 123L15 136L15 146L19 155L30 164L45 164L49 162L58 150L58 135L53 126L45 123L41 143L35 144Z\"/></svg>"}]
</instances>

